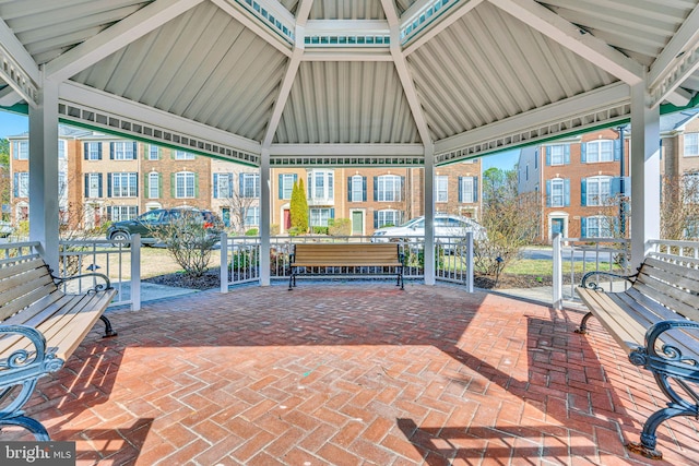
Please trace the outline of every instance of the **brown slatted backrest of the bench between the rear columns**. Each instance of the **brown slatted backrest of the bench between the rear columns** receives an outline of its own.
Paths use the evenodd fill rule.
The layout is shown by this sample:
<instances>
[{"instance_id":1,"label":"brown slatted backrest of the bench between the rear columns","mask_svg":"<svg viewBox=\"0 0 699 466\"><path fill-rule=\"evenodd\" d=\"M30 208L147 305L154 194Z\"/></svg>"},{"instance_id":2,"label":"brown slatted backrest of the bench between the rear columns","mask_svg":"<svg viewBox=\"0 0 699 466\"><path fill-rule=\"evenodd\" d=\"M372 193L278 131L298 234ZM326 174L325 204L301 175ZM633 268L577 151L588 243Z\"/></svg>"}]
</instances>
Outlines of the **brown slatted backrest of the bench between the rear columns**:
<instances>
[{"instance_id":1,"label":"brown slatted backrest of the bench between the rear columns","mask_svg":"<svg viewBox=\"0 0 699 466\"><path fill-rule=\"evenodd\" d=\"M388 242L299 243L294 247L294 255L296 262L396 263L399 246Z\"/></svg>"}]
</instances>

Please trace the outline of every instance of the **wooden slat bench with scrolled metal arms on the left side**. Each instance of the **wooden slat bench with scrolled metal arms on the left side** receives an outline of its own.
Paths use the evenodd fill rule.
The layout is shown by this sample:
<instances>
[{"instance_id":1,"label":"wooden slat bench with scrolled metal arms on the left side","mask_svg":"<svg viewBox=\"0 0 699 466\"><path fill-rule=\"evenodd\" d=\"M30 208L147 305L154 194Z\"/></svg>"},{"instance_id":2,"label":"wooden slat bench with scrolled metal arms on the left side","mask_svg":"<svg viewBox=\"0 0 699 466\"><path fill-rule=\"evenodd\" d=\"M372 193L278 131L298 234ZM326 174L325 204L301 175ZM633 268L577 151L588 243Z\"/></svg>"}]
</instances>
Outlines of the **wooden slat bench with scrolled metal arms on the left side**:
<instances>
[{"instance_id":1,"label":"wooden slat bench with scrolled metal arms on the left side","mask_svg":"<svg viewBox=\"0 0 699 466\"><path fill-rule=\"evenodd\" d=\"M75 278L95 286L78 295L63 292L61 286ZM22 407L38 379L59 370L98 319L105 336L116 335L103 315L116 292L103 274L60 280L40 258L0 266L0 429L20 426L38 441L50 440Z\"/></svg>"}]
</instances>

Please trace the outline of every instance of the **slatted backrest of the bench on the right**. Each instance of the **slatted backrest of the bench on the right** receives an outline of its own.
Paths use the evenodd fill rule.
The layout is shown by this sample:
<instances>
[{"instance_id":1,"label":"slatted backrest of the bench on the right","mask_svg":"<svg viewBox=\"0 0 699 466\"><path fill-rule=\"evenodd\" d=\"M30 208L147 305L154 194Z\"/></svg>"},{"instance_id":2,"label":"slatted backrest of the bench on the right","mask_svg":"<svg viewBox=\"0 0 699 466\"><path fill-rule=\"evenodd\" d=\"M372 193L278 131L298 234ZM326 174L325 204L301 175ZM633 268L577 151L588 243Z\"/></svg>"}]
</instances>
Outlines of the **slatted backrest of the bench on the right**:
<instances>
[{"instance_id":1,"label":"slatted backrest of the bench on the right","mask_svg":"<svg viewBox=\"0 0 699 466\"><path fill-rule=\"evenodd\" d=\"M699 322L699 268L647 258L633 288Z\"/></svg>"}]
</instances>

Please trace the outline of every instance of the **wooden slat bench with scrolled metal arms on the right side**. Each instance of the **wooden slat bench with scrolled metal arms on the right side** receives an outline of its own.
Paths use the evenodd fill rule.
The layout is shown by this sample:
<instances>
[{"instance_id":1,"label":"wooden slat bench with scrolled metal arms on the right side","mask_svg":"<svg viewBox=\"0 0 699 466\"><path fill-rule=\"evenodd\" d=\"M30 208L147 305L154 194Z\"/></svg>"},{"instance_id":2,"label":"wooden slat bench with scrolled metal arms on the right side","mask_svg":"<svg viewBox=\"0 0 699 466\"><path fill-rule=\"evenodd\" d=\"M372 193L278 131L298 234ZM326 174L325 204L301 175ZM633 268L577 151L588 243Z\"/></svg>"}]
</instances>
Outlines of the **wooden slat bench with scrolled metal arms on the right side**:
<instances>
[{"instance_id":1,"label":"wooden slat bench with scrolled metal arms on the right side","mask_svg":"<svg viewBox=\"0 0 699 466\"><path fill-rule=\"evenodd\" d=\"M668 398L666 407L647 419L641 441L627 445L650 458L662 457L655 450L655 431L662 422L676 416L699 416L699 260L682 261L649 256L635 275L591 272L577 288L590 310L578 332L585 333L594 315L633 365L653 373ZM624 278L631 286L605 292L590 282L595 275Z\"/></svg>"}]
</instances>

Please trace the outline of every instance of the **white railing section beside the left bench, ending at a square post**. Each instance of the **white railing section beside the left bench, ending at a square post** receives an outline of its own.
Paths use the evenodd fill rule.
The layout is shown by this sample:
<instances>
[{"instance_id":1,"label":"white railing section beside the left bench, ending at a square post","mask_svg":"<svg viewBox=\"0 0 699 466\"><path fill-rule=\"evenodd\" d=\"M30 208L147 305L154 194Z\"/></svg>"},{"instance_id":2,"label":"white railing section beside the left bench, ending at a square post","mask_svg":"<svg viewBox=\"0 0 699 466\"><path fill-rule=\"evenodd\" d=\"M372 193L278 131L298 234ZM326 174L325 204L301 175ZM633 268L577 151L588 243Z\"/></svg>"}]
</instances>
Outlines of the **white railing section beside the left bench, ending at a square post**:
<instances>
[{"instance_id":1,"label":"white railing section beside the left bench, ending at a square post","mask_svg":"<svg viewBox=\"0 0 699 466\"><path fill-rule=\"evenodd\" d=\"M131 310L141 309L141 235L129 240L106 239L61 240L59 242L59 276L66 278L96 272L106 275L118 291L109 304L130 304ZM95 280L73 280L72 289L82 292L94 286Z\"/></svg>"}]
</instances>

